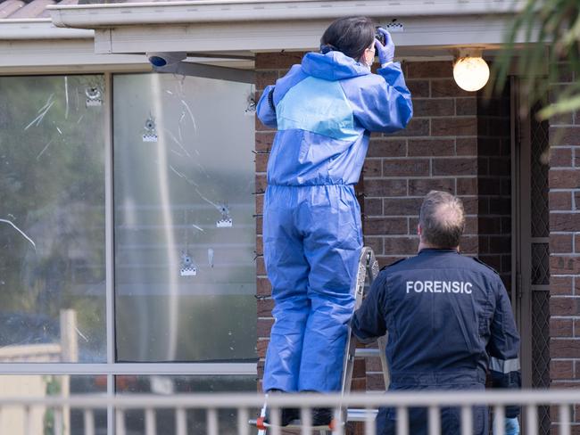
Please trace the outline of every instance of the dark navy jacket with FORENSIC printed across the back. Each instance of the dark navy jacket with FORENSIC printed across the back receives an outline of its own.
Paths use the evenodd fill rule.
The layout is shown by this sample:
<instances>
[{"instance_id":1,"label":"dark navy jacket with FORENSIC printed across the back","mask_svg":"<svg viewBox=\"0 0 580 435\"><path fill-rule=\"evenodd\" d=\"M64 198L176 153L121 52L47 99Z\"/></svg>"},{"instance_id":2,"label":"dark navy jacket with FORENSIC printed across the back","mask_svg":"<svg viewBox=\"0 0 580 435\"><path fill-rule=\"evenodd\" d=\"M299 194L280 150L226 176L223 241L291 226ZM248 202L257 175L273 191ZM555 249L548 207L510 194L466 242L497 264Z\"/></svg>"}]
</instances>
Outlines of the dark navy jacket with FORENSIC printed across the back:
<instances>
[{"instance_id":1,"label":"dark navy jacket with FORENSIC printed across the back","mask_svg":"<svg viewBox=\"0 0 580 435\"><path fill-rule=\"evenodd\" d=\"M520 387L508 293L491 267L456 250L421 250L385 267L352 328L360 341L388 332L390 390L484 389L488 370L494 387Z\"/></svg>"}]
</instances>

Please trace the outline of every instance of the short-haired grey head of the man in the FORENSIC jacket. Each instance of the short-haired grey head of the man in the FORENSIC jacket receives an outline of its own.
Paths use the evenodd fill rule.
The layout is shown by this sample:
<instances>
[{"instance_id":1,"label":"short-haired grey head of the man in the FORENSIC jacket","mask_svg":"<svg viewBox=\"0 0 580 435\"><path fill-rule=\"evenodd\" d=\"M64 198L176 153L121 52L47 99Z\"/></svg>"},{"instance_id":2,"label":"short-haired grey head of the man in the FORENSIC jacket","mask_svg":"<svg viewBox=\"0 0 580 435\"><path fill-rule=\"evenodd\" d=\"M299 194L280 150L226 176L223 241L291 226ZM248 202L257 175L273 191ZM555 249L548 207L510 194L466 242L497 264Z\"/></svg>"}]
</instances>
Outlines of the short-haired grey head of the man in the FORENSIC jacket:
<instances>
[{"instance_id":1,"label":"short-haired grey head of the man in the FORENSIC jacket","mask_svg":"<svg viewBox=\"0 0 580 435\"><path fill-rule=\"evenodd\" d=\"M465 230L463 202L451 193L427 193L418 216L421 238L435 248L456 248Z\"/></svg>"}]
</instances>

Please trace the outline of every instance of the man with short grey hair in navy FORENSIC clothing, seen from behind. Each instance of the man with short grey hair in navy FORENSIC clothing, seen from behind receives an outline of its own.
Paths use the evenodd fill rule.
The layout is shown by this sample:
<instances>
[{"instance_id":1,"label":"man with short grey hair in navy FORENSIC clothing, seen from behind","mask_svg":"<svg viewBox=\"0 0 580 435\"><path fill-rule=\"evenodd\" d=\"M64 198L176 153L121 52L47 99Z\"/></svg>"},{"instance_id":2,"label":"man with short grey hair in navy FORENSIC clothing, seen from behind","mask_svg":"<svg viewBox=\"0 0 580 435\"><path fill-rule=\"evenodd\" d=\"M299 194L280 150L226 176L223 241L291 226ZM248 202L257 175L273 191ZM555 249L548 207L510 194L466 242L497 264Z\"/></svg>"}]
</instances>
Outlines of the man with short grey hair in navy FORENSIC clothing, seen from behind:
<instances>
[{"instance_id":1,"label":"man with short grey hair in navy FORENSIC clothing, seen from behind","mask_svg":"<svg viewBox=\"0 0 580 435\"><path fill-rule=\"evenodd\" d=\"M352 318L360 341L388 332L389 390L520 388L519 336L500 276L460 255L461 201L430 192L420 209L418 255L385 267ZM517 435L518 406L507 406L506 434ZM427 412L410 409L410 433L427 434ZM474 433L487 435L487 407L474 407ZM443 435L461 433L460 409L441 410ZM377 434L394 434L396 412L380 409Z\"/></svg>"}]
</instances>

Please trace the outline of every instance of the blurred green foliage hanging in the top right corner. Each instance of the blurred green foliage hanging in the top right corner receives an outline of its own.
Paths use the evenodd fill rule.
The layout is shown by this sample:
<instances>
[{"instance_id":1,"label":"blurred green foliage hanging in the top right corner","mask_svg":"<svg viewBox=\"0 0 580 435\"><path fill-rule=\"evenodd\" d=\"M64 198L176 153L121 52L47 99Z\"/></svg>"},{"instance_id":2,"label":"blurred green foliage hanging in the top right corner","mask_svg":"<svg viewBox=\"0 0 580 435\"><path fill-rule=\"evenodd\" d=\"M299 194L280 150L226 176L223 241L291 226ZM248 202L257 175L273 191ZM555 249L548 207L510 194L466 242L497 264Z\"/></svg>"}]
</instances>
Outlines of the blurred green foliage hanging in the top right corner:
<instances>
[{"instance_id":1,"label":"blurred green foliage hanging in the top right corner","mask_svg":"<svg viewBox=\"0 0 580 435\"><path fill-rule=\"evenodd\" d=\"M525 45L517 43L521 35ZM497 87L512 65L523 74L530 106L542 103L540 119L580 109L580 2L527 0L493 65Z\"/></svg>"}]
</instances>

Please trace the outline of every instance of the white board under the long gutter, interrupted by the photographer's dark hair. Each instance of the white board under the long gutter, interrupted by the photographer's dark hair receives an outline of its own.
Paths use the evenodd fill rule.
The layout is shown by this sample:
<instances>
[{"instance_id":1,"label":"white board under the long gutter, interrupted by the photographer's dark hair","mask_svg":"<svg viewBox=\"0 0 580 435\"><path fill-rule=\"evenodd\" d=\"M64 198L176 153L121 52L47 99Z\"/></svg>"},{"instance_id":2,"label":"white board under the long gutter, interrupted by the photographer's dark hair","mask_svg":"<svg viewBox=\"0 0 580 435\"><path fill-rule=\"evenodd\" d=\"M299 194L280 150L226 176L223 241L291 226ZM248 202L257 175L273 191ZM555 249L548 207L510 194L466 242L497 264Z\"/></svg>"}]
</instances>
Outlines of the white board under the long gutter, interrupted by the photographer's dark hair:
<instances>
[{"instance_id":1,"label":"white board under the long gutter, interrupted by the photographer's dark hair","mask_svg":"<svg viewBox=\"0 0 580 435\"><path fill-rule=\"evenodd\" d=\"M400 21L404 31L392 34L397 54L404 54L405 47L418 46L497 47L508 29L507 17L501 15L409 17ZM311 50L319 46L327 25L326 20L237 21L95 29L95 53Z\"/></svg>"}]
</instances>

